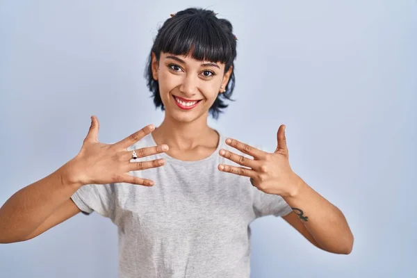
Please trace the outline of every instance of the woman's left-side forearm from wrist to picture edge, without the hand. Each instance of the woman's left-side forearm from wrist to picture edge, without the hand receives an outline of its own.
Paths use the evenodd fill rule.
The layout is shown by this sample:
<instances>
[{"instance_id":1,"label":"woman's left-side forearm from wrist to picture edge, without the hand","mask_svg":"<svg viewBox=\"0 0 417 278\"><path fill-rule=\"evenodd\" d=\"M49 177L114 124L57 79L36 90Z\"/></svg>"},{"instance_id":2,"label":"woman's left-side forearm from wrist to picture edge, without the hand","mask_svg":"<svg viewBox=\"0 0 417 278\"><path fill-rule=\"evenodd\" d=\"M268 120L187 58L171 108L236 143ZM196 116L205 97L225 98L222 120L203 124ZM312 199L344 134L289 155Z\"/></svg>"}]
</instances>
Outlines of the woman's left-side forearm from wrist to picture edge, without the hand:
<instances>
[{"instance_id":1,"label":"woman's left-side forearm from wrist to picture edge, without the hand","mask_svg":"<svg viewBox=\"0 0 417 278\"><path fill-rule=\"evenodd\" d=\"M22 188L0 208L0 243L15 242L31 234L80 184L67 179L65 166Z\"/></svg>"}]
</instances>

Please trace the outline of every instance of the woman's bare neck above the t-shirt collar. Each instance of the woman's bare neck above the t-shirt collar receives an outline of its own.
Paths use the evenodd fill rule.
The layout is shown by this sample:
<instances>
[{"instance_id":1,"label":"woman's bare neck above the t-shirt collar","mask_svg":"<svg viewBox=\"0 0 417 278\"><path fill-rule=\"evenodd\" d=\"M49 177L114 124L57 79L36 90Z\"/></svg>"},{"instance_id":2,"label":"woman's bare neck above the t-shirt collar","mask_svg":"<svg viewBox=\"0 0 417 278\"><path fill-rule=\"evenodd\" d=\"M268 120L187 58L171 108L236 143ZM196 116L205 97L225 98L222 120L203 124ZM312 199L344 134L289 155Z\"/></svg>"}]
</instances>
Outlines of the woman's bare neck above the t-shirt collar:
<instances>
[{"instance_id":1,"label":"woman's bare neck above the t-shirt collar","mask_svg":"<svg viewBox=\"0 0 417 278\"><path fill-rule=\"evenodd\" d=\"M187 150L199 145L207 145L208 140L216 135L215 131L207 124L207 117L199 117L193 122L178 122L165 114L160 126L152 136L158 145L167 144L170 148ZM208 143L210 144L210 143Z\"/></svg>"}]
</instances>

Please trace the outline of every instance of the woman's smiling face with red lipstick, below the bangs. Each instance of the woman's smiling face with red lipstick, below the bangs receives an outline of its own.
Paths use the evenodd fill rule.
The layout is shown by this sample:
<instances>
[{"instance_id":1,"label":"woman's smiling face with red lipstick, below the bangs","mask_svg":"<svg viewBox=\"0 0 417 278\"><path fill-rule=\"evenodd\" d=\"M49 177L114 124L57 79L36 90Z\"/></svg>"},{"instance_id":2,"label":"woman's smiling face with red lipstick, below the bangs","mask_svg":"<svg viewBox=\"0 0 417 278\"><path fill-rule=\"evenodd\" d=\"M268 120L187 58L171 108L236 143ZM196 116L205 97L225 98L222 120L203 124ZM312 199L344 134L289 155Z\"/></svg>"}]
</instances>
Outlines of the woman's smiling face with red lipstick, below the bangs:
<instances>
[{"instance_id":1,"label":"woman's smiling face with red lipstick, below the bangs","mask_svg":"<svg viewBox=\"0 0 417 278\"><path fill-rule=\"evenodd\" d=\"M222 63L166 53L157 61L152 53L152 74L159 84L165 117L179 122L207 117L218 94L225 91L231 72L231 68L224 72Z\"/></svg>"}]
</instances>

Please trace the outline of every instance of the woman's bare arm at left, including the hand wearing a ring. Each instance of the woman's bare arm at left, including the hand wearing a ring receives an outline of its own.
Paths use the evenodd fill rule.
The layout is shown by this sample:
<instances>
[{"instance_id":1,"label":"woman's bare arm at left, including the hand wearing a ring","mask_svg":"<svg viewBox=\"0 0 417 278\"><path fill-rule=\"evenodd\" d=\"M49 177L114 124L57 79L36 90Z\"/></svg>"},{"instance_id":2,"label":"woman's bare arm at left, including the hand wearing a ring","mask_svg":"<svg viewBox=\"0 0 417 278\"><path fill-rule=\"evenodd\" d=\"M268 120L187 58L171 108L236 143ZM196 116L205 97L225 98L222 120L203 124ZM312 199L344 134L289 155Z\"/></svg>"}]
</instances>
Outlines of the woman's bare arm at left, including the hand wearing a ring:
<instances>
[{"instance_id":1,"label":"woman's bare arm at left, including the hand wearing a ring","mask_svg":"<svg viewBox=\"0 0 417 278\"><path fill-rule=\"evenodd\" d=\"M154 130L145 126L112 144L98 141L99 121L91 117L90 130L83 147L71 161L35 183L17 191L0 208L0 243L28 240L79 213L72 195L85 184L132 183L152 186L153 181L129 175L129 172L160 167L163 160L131 163L127 148ZM165 145L136 149L140 157L166 152ZM135 159L135 158L133 158Z\"/></svg>"}]
</instances>

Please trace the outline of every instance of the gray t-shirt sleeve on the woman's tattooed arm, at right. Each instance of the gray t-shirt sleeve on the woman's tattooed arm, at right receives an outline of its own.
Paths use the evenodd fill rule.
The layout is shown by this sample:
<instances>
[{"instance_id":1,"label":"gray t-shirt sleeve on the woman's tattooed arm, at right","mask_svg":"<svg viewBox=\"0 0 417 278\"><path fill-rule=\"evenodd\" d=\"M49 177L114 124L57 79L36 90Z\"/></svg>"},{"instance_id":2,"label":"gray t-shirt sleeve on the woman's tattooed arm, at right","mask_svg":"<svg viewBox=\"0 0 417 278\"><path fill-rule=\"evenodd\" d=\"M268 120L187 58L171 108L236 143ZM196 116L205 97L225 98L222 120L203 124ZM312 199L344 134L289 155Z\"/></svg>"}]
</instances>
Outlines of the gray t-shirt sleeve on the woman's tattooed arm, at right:
<instances>
[{"instance_id":1,"label":"gray t-shirt sleeve on the woman's tattooed arm, at right","mask_svg":"<svg viewBox=\"0 0 417 278\"><path fill-rule=\"evenodd\" d=\"M254 188L254 212L256 218L267 215L285 216L291 213L293 209L289 206L283 197L274 194L264 193L258 188Z\"/></svg>"}]
</instances>

